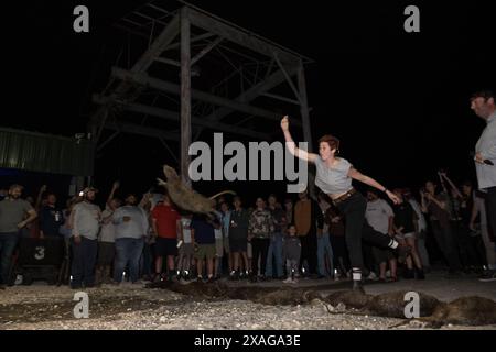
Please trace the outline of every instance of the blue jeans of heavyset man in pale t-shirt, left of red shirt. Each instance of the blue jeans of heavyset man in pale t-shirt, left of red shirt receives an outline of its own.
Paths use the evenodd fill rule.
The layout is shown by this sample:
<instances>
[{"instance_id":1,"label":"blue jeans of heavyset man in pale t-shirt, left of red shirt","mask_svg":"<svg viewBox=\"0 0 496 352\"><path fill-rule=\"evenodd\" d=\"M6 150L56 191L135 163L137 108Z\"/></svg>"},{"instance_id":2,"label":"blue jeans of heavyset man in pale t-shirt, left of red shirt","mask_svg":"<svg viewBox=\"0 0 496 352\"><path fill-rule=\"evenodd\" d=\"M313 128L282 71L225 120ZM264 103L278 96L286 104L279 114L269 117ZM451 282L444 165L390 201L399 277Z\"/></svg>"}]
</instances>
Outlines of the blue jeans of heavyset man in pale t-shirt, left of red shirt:
<instances>
[{"instance_id":1,"label":"blue jeans of heavyset man in pale t-shirt, left of red shirt","mask_svg":"<svg viewBox=\"0 0 496 352\"><path fill-rule=\"evenodd\" d=\"M120 283L126 265L129 263L131 282L139 279L140 257L143 252L144 239L122 238L116 239L116 263L114 280Z\"/></svg>"}]
</instances>

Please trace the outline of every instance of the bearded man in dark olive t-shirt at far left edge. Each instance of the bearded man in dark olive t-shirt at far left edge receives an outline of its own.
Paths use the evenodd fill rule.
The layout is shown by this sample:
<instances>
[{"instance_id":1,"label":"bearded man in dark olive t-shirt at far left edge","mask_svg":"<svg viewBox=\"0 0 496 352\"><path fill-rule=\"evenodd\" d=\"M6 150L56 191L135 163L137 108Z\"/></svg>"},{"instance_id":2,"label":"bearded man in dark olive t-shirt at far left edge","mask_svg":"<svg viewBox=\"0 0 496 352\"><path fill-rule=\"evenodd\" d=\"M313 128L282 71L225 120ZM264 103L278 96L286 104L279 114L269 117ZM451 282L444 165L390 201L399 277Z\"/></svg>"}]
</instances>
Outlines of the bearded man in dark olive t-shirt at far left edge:
<instances>
[{"instance_id":1,"label":"bearded man in dark olive t-shirt at far left edge","mask_svg":"<svg viewBox=\"0 0 496 352\"><path fill-rule=\"evenodd\" d=\"M0 201L0 289L9 284L8 276L19 231L37 217L33 207L20 198L23 188L21 185L10 186L9 196ZM28 218L24 219L26 213Z\"/></svg>"}]
</instances>

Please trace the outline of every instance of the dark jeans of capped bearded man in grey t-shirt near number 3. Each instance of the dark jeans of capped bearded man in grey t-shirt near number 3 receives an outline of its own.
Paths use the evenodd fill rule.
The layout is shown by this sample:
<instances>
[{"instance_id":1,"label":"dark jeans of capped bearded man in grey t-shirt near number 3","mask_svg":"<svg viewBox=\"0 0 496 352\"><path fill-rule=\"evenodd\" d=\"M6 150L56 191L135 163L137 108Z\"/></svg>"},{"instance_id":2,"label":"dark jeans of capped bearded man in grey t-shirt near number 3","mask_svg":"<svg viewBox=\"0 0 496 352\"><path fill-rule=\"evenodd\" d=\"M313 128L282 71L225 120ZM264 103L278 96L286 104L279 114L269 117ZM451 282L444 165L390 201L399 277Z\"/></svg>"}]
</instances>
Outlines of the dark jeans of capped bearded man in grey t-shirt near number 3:
<instances>
[{"instance_id":1,"label":"dark jeans of capped bearded man in grey t-shirt near number 3","mask_svg":"<svg viewBox=\"0 0 496 352\"><path fill-rule=\"evenodd\" d=\"M80 243L76 244L74 238L71 238L71 244L73 246L73 263L71 267L73 280L71 286L95 285L98 241L80 237Z\"/></svg>"}]
</instances>

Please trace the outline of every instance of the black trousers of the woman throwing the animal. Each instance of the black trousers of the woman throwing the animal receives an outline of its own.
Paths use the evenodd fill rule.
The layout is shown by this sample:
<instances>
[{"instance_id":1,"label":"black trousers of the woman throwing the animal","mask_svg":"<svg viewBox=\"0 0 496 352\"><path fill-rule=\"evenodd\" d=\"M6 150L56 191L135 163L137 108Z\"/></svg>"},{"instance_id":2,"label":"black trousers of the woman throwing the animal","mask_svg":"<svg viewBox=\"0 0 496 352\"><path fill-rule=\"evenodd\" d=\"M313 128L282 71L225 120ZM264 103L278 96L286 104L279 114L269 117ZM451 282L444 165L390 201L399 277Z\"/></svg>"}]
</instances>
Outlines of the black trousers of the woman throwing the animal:
<instances>
[{"instance_id":1,"label":"black trousers of the woman throwing the animal","mask_svg":"<svg viewBox=\"0 0 496 352\"><path fill-rule=\"evenodd\" d=\"M348 249L352 267L363 268L364 256L362 254L362 240L365 240L373 245L387 248L391 243L391 238L374 230L374 228L365 220L367 200L362 194L356 193L348 199L341 201L337 204L337 208L345 218L346 246Z\"/></svg>"}]
</instances>

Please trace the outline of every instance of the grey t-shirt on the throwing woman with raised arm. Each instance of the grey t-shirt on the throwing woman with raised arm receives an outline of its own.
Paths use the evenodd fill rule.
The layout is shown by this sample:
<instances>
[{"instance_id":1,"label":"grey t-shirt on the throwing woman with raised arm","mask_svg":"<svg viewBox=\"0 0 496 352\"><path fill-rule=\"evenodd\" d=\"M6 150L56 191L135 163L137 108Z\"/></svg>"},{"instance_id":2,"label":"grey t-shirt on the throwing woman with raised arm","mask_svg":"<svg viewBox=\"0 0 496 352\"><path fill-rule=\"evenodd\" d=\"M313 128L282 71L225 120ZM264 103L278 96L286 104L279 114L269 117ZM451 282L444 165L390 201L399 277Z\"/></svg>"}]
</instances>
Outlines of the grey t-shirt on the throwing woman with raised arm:
<instances>
[{"instance_id":1,"label":"grey t-shirt on the throwing woman with raised arm","mask_svg":"<svg viewBox=\"0 0 496 352\"><path fill-rule=\"evenodd\" d=\"M352 189L352 177L348 176L352 164L339 157L337 165L328 167L319 155L315 158L315 185L327 195L339 195Z\"/></svg>"}]
</instances>

